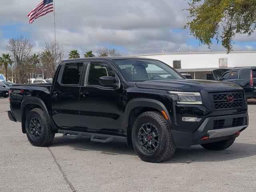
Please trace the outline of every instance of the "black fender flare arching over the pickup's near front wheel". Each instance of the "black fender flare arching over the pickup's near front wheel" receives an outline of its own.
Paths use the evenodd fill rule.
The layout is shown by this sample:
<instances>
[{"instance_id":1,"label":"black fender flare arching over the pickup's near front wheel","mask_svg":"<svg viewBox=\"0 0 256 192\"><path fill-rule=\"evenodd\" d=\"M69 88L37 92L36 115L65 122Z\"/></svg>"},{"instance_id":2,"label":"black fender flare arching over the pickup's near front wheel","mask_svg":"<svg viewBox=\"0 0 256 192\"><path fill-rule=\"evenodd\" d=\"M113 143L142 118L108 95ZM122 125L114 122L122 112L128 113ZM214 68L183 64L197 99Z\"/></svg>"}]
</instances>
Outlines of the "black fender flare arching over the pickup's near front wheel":
<instances>
[{"instance_id":1,"label":"black fender flare arching over the pickup's near front wheel","mask_svg":"<svg viewBox=\"0 0 256 192\"><path fill-rule=\"evenodd\" d=\"M128 133L129 116L131 111L136 107L150 107L150 108L155 108L158 111L164 110L164 112L168 116L167 122L169 125L171 125L170 114L162 102L155 99L136 98L128 102L124 111L124 120L122 121L122 128L123 130L126 130L127 136L129 136L128 135L129 134Z\"/></svg>"}]
</instances>

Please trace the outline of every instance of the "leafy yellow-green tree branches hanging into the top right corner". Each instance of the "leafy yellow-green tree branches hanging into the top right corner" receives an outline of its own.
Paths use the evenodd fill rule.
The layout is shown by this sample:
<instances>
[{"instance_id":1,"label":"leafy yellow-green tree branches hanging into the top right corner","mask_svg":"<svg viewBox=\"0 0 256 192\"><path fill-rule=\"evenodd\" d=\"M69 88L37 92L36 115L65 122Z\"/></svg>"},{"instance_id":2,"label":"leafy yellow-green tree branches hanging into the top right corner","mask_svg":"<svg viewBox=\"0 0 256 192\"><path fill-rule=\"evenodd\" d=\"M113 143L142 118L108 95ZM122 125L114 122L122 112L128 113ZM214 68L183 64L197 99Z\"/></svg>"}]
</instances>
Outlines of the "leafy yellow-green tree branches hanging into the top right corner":
<instances>
[{"instance_id":1,"label":"leafy yellow-green tree branches hanging into the top right corner","mask_svg":"<svg viewBox=\"0 0 256 192\"><path fill-rule=\"evenodd\" d=\"M184 28L208 48L215 38L230 52L236 34L250 36L256 28L256 0L187 1L189 21Z\"/></svg>"}]
</instances>

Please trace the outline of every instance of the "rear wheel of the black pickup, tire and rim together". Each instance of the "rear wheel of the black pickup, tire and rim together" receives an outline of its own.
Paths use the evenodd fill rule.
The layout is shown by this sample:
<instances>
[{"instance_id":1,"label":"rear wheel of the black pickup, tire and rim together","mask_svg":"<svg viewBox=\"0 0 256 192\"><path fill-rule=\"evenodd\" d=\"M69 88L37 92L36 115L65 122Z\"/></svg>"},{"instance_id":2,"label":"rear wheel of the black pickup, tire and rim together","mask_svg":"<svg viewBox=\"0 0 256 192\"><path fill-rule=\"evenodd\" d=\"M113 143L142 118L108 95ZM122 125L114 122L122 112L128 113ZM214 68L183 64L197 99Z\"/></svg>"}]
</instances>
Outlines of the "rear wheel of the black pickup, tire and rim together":
<instances>
[{"instance_id":1,"label":"rear wheel of the black pickup, tire and rim together","mask_svg":"<svg viewBox=\"0 0 256 192\"><path fill-rule=\"evenodd\" d=\"M44 111L32 109L26 118L26 134L33 146L48 146L52 143L55 133L50 131L50 124Z\"/></svg>"}]
</instances>

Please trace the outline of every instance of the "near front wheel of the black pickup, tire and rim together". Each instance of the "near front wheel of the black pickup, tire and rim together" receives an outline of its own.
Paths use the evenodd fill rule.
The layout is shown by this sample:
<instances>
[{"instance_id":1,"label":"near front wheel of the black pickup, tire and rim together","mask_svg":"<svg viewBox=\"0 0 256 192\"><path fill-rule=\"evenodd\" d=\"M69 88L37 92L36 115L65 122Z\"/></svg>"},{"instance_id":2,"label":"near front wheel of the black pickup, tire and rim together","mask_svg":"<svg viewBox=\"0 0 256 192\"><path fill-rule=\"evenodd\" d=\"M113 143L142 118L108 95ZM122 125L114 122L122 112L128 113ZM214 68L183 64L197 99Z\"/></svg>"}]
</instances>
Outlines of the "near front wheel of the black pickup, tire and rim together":
<instances>
[{"instance_id":1,"label":"near front wheel of the black pickup, tire and rim together","mask_svg":"<svg viewBox=\"0 0 256 192\"><path fill-rule=\"evenodd\" d=\"M160 112L140 114L132 128L132 145L138 156L146 162L162 162L175 152L172 134Z\"/></svg>"}]
</instances>

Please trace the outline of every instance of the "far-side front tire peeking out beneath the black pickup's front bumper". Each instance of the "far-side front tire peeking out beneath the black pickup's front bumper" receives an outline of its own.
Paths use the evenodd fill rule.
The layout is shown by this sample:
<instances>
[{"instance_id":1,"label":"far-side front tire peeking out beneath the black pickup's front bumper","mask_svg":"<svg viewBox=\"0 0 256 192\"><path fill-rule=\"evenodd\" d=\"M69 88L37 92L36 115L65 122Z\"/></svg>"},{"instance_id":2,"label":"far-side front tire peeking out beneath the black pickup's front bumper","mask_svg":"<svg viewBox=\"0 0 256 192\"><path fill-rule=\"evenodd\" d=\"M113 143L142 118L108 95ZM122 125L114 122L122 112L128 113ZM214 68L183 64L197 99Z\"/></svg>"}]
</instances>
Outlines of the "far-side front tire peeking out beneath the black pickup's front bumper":
<instances>
[{"instance_id":1,"label":"far-side front tire peeking out beneath the black pickup's front bumper","mask_svg":"<svg viewBox=\"0 0 256 192\"><path fill-rule=\"evenodd\" d=\"M207 150L220 151L229 148L234 143L235 140L236 138L232 138L228 140L202 144L201 146Z\"/></svg>"}]
</instances>

